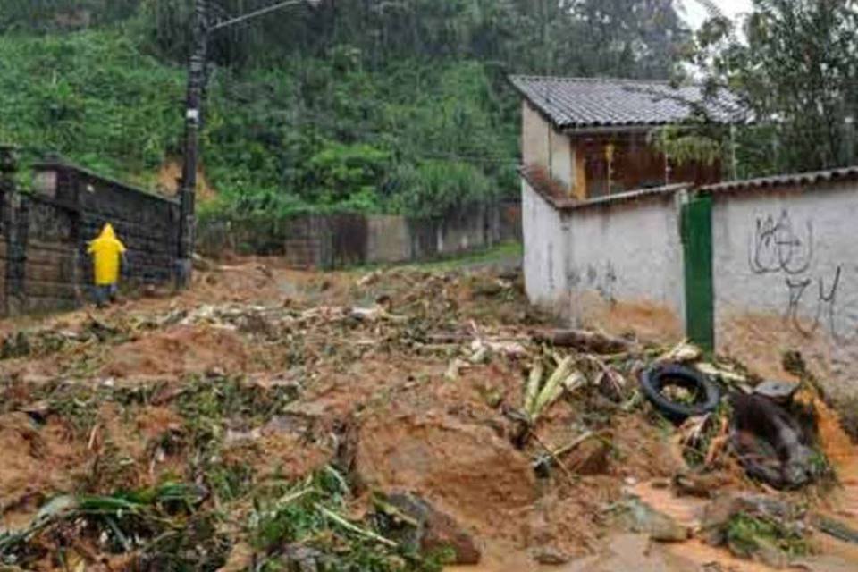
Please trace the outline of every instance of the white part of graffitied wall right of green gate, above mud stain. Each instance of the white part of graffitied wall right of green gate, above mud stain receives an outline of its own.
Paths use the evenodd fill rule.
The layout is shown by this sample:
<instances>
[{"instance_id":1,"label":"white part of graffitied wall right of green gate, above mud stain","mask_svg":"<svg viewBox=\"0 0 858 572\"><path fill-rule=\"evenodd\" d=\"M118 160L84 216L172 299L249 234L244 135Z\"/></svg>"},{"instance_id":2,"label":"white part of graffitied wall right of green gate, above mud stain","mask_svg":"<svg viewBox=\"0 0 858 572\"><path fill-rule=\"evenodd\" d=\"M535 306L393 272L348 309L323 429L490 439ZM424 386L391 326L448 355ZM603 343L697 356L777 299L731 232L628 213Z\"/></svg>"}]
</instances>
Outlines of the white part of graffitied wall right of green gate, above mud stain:
<instances>
[{"instance_id":1,"label":"white part of graffitied wall right of green gate, above mud stain","mask_svg":"<svg viewBox=\"0 0 858 572\"><path fill-rule=\"evenodd\" d=\"M712 242L717 311L787 315L792 300L792 310L815 320L820 285L828 298L837 282L834 321L825 325L858 341L856 224L858 189L852 186L716 195Z\"/></svg>"}]
</instances>

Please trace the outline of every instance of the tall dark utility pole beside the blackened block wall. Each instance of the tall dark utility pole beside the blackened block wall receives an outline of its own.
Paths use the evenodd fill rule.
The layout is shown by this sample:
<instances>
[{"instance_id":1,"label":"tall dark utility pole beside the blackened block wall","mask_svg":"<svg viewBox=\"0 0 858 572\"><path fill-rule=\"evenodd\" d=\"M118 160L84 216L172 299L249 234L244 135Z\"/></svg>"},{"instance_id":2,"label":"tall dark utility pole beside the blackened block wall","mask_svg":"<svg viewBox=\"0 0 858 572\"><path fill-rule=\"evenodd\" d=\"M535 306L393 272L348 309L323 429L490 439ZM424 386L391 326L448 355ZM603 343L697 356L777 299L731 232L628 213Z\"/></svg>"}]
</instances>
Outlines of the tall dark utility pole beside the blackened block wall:
<instances>
[{"instance_id":1,"label":"tall dark utility pole beside the blackened block wall","mask_svg":"<svg viewBox=\"0 0 858 572\"><path fill-rule=\"evenodd\" d=\"M179 287L188 288L193 271L194 234L197 229L197 163L202 120L203 84L208 49L208 1L195 0L191 52L188 64L188 96L185 105L185 149L179 191Z\"/></svg>"}]
</instances>

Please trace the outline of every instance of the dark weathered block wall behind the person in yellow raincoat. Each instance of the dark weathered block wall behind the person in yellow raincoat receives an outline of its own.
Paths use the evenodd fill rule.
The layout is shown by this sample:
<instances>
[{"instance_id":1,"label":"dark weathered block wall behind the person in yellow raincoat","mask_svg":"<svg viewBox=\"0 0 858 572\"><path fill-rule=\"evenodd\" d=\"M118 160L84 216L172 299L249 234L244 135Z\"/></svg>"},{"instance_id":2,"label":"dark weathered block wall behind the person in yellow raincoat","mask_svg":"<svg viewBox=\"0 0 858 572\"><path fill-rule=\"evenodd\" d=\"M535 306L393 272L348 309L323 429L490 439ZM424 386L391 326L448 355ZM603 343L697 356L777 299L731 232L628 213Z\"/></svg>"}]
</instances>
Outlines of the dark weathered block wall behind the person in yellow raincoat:
<instances>
[{"instance_id":1,"label":"dark weathered block wall behind the person in yellow raincoat","mask_svg":"<svg viewBox=\"0 0 858 572\"><path fill-rule=\"evenodd\" d=\"M175 201L60 162L35 165L32 192L21 193L13 185L16 165L9 160L4 164L0 177L4 315L80 306L92 283L88 241L105 223L114 225L128 248L126 284L172 280L178 252Z\"/></svg>"}]
</instances>

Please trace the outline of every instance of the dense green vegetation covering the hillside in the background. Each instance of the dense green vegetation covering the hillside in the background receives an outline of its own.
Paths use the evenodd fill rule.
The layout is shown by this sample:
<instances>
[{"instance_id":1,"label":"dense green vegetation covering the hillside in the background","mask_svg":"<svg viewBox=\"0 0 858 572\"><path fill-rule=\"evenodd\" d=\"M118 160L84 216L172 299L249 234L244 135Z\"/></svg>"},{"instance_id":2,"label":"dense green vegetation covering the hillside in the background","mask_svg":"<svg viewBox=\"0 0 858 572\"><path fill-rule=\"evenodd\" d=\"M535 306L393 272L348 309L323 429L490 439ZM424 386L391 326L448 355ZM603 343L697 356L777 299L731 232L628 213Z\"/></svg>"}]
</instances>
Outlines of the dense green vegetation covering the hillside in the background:
<instances>
[{"instance_id":1,"label":"dense green vegetation covering the hillside in the background","mask_svg":"<svg viewBox=\"0 0 858 572\"><path fill-rule=\"evenodd\" d=\"M0 139L156 182L181 152L191 4L4 2ZM223 18L272 3L213 4ZM667 78L687 38L670 0L329 0L223 30L209 208L442 214L514 193L507 73Z\"/></svg>"}]
</instances>

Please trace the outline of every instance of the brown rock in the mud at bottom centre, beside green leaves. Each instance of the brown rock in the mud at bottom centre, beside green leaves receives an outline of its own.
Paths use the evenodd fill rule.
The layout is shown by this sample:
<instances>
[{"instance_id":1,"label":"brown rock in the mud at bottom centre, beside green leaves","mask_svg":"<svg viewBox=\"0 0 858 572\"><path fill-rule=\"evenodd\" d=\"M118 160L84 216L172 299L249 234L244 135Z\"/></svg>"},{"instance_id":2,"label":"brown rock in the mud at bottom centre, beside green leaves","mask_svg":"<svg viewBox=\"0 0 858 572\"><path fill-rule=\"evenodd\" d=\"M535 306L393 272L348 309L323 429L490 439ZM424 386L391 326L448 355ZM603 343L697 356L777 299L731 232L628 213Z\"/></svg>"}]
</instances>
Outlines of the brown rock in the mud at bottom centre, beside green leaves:
<instances>
[{"instance_id":1,"label":"brown rock in the mud at bottom centre, beside green leaves","mask_svg":"<svg viewBox=\"0 0 858 572\"><path fill-rule=\"evenodd\" d=\"M455 554L453 563L458 565L476 565L483 558L474 538L455 519L416 495L387 495L378 509L384 533L412 550L430 553L450 549Z\"/></svg>"}]
</instances>

